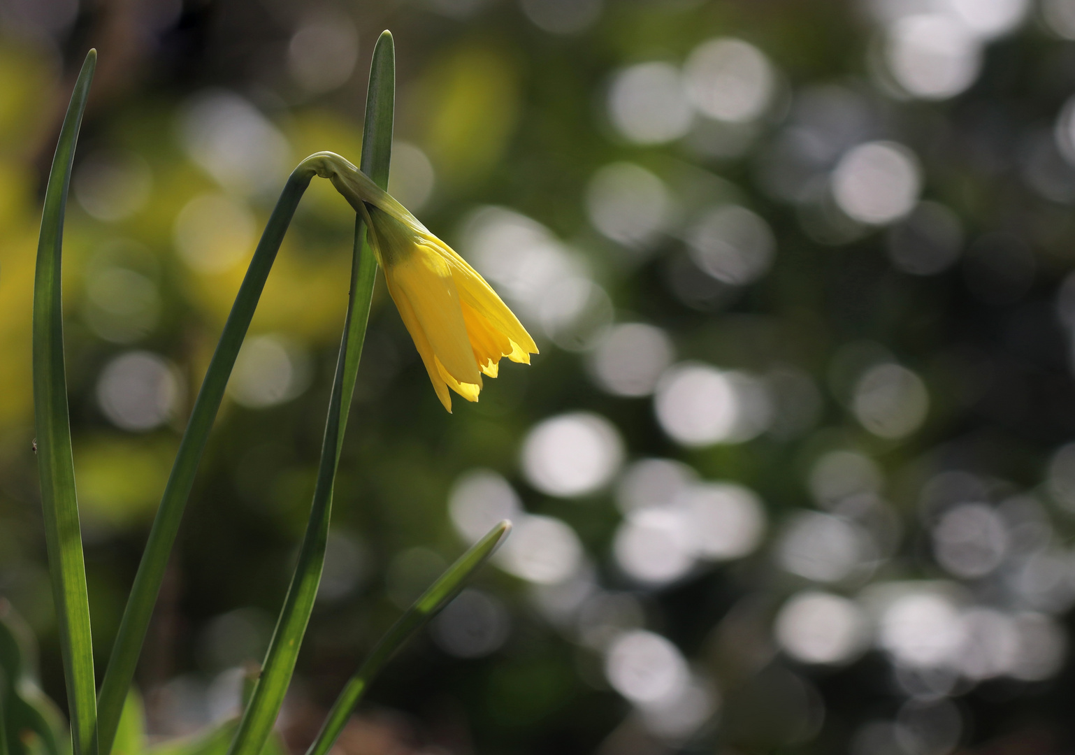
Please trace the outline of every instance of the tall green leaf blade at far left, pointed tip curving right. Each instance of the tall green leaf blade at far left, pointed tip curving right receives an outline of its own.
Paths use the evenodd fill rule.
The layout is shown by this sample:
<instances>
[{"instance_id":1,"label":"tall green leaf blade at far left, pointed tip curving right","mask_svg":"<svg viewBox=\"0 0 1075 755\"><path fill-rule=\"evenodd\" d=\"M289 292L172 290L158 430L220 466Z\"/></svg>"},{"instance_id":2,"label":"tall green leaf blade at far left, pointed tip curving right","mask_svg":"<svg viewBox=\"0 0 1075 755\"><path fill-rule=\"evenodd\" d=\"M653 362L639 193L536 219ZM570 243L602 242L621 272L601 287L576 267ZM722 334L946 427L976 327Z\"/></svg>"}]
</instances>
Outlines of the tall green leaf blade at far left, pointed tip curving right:
<instances>
[{"instance_id":1,"label":"tall green leaf blade at far left, pointed tip curving right","mask_svg":"<svg viewBox=\"0 0 1075 755\"><path fill-rule=\"evenodd\" d=\"M48 571L63 655L74 755L91 755L97 750L97 695L86 565L82 554L71 454L60 268L71 165L96 66L97 51L91 49L78 73L60 128L45 190L33 281L33 411L38 433L38 475L41 479Z\"/></svg>"}]
</instances>

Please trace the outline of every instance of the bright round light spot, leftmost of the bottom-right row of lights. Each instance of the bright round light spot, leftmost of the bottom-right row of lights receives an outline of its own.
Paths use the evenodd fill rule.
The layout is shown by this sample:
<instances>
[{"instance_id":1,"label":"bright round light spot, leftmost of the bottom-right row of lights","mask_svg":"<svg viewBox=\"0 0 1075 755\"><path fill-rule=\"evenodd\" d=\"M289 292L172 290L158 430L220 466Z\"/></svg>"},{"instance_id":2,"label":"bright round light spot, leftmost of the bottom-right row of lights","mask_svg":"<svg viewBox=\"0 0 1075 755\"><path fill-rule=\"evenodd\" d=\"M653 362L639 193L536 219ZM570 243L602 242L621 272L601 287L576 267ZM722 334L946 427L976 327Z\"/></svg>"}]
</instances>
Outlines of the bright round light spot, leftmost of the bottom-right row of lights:
<instances>
[{"instance_id":1,"label":"bright round light spot, leftmost of the bottom-right row of lights","mask_svg":"<svg viewBox=\"0 0 1075 755\"><path fill-rule=\"evenodd\" d=\"M869 635L862 610L831 593L806 590L776 615L776 640L804 664L842 664L864 650Z\"/></svg>"}]
</instances>

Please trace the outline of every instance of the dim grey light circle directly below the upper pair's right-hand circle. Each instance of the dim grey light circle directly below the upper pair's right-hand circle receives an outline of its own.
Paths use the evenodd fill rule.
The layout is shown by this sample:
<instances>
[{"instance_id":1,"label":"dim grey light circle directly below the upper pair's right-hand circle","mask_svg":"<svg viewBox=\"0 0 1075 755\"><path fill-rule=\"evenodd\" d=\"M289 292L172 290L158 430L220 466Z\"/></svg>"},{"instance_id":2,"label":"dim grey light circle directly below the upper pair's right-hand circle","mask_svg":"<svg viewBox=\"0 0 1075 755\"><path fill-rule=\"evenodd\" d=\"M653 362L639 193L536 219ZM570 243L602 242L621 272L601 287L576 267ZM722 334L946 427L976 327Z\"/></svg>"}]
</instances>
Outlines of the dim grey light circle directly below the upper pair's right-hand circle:
<instances>
[{"instance_id":1,"label":"dim grey light circle directly below the upper pair's right-hand circle","mask_svg":"<svg viewBox=\"0 0 1075 755\"><path fill-rule=\"evenodd\" d=\"M769 270L776 239L757 214L727 204L706 213L690 229L687 248L694 263L710 275L742 286Z\"/></svg>"}]
</instances>

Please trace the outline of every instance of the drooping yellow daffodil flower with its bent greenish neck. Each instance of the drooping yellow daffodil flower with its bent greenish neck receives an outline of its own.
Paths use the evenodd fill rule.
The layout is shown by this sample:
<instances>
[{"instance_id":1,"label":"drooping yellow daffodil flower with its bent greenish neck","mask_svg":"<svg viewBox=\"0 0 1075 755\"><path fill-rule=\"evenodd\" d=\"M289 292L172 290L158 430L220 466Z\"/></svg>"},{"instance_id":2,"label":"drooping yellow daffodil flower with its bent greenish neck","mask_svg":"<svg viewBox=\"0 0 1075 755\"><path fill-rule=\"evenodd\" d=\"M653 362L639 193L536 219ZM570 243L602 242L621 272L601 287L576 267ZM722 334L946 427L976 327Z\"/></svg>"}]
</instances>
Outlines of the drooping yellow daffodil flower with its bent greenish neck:
<instances>
[{"instance_id":1,"label":"drooping yellow daffodil flower with its bent greenish neck","mask_svg":"<svg viewBox=\"0 0 1075 755\"><path fill-rule=\"evenodd\" d=\"M344 158L321 152L304 162L366 220L388 293L445 409L448 388L477 401L482 375L496 378L501 358L530 364L538 353L530 333L467 260Z\"/></svg>"}]
</instances>

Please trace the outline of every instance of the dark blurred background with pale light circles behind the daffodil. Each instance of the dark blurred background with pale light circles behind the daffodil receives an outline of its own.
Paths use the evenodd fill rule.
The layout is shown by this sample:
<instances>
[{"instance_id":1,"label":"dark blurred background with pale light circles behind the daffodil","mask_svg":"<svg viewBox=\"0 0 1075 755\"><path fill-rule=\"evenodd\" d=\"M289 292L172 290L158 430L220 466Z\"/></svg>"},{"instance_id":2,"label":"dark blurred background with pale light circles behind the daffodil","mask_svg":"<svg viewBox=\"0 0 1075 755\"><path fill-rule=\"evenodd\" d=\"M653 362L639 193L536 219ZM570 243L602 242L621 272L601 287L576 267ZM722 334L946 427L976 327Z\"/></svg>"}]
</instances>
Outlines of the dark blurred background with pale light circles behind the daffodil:
<instances>
[{"instance_id":1,"label":"dark blurred background with pale light circles behind the daffodil","mask_svg":"<svg viewBox=\"0 0 1075 755\"><path fill-rule=\"evenodd\" d=\"M44 176L100 52L64 301L99 672L289 170L358 162L538 339L436 401L378 286L302 752L400 611L516 528L339 755L998 755L1075 746L1075 0L0 0L0 596L62 704L31 451ZM313 492L354 214L303 200L138 683L232 715Z\"/></svg>"}]
</instances>

